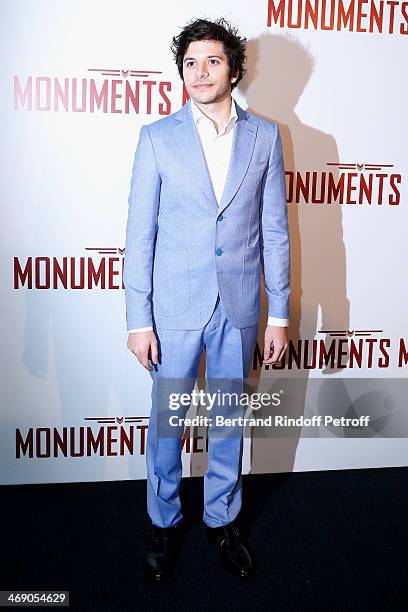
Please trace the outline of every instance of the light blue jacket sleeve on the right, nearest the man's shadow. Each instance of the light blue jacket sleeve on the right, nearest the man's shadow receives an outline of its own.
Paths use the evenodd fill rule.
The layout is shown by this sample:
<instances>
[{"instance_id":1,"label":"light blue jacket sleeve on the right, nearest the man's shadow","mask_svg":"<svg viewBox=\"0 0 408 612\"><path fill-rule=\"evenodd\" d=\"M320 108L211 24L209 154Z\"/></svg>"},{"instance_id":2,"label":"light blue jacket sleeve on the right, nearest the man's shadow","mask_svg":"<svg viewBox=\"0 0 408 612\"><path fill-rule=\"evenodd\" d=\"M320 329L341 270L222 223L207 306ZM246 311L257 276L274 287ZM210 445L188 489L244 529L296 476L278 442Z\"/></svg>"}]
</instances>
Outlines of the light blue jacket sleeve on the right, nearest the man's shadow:
<instances>
[{"instance_id":1,"label":"light blue jacket sleeve on the right, nearest the man's shadow","mask_svg":"<svg viewBox=\"0 0 408 612\"><path fill-rule=\"evenodd\" d=\"M268 297L268 316L289 318L290 241L285 169L279 127L263 181L261 201L261 264Z\"/></svg>"}]
</instances>

